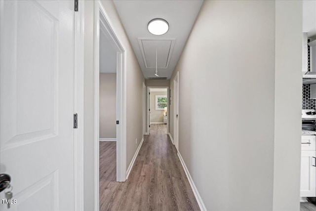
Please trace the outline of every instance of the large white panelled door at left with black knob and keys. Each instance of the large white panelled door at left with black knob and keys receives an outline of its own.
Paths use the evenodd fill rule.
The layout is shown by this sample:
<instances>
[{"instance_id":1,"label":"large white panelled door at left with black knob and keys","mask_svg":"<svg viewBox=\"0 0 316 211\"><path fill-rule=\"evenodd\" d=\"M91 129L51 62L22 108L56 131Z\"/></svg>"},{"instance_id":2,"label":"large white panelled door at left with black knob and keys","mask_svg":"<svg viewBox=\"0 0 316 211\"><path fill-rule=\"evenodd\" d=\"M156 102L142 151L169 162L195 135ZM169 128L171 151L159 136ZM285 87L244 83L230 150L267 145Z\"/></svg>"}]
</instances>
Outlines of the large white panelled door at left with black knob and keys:
<instances>
[{"instance_id":1,"label":"large white panelled door at left with black knob and keys","mask_svg":"<svg viewBox=\"0 0 316 211\"><path fill-rule=\"evenodd\" d=\"M11 176L10 210L73 211L74 0L1 0L0 46L0 173Z\"/></svg>"}]
</instances>

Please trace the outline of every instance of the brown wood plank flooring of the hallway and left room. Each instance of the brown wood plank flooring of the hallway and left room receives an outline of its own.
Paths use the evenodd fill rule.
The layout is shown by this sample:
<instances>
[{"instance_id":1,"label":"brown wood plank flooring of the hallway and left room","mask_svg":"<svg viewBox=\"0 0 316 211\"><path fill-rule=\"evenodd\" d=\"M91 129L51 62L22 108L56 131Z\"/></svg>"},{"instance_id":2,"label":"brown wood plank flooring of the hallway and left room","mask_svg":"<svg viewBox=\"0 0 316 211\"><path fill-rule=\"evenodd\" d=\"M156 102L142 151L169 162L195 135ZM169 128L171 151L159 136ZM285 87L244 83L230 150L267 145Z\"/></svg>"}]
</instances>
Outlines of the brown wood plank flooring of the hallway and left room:
<instances>
[{"instance_id":1,"label":"brown wood plank flooring of the hallway and left room","mask_svg":"<svg viewBox=\"0 0 316 211\"><path fill-rule=\"evenodd\" d=\"M100 211L199 210L177 151L166 134L145 135L125 182L115 181L115 144L100 142Z\"/></svg>"}]
</instances>

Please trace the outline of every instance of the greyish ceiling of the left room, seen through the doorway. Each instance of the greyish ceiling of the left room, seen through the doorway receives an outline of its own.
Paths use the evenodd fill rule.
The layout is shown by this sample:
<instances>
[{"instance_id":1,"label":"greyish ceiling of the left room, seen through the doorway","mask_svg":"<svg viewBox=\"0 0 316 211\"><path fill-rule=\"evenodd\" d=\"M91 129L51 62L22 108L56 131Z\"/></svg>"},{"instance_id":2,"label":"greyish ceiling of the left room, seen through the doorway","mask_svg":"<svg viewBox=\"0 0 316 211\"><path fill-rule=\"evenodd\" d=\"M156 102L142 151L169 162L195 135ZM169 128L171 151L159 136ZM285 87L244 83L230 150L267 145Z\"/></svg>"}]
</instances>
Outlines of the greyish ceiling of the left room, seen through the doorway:
<instances>
[{"instance_id":1,"label":"greyish ceiling of the left room, seen through the doorway","mask_svg":"<svg viewBox=\"0 0 316 211\"><path fill-rule=\"evenodd\" d=\"M101 25L101 24L100 24ZM117 52L112 47L103 29L100 30L100 73L117 72Z\"/></svg>"}]
</instances>

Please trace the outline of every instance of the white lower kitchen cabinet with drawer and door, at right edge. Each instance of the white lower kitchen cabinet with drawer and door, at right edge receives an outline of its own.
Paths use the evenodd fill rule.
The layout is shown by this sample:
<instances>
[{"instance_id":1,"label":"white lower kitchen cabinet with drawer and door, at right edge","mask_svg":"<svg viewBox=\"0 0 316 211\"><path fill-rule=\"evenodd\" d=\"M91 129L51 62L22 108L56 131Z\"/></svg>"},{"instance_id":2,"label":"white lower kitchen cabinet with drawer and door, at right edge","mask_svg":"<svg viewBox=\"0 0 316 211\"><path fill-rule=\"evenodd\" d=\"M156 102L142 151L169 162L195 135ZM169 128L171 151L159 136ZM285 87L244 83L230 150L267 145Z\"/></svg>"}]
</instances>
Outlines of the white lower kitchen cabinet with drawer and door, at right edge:
<instances>
[{"instance_id":1,"label":"white lower kitchen cabinet with drawer and door, at right edge","mask_svg":"<svg viewBox=\"0 0 316 211\"><path fill-rule=\"evenodd\" d=\"M316 147L313 144L306 144L307 140L313 143L315 136L302 136L300 195L316 197Z\"/></svg>"}]
</instances>

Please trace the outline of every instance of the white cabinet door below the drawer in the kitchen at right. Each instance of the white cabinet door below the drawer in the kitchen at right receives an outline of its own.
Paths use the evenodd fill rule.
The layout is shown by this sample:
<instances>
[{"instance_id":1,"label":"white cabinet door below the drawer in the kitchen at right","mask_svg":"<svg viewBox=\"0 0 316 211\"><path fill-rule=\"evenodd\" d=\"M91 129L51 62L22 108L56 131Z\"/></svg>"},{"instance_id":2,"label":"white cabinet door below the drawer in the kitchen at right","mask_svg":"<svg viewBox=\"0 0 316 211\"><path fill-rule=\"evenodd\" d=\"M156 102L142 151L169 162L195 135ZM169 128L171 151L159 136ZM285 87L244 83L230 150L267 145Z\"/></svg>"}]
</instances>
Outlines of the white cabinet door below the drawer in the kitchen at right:
<instances>
[{"instance_id":1,"label":"white cabinet door below the drawer in the kitchen at right","mask_svg":"<svg viewBox=\"0 0 316 211\"><path fill-rule=\"evenodd\" d=\"M301 197L316 197L316 151L301 152Z\"/></svg>"}]
</instances>

